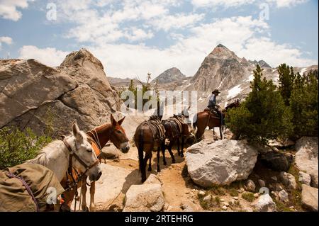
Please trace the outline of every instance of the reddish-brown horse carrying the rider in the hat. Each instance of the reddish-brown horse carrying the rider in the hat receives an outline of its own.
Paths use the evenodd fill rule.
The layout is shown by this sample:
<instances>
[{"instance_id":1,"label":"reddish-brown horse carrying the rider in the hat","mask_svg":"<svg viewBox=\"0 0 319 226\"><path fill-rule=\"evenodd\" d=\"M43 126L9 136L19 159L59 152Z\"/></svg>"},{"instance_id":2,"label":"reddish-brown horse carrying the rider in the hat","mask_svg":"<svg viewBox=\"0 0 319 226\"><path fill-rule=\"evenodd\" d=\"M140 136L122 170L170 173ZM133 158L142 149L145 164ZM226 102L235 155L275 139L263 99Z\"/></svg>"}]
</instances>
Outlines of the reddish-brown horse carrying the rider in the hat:
<instances>
[{"instance_id":1,"label":"reddish-brown horse carrying the rider in the hat","mask_svg":"<svg viewBox=\"0 0 319 226\"><path fill-rule=\"evenodd\" d=\"M205 109L205 111L198 112L194 115L193 119L193 128L196 131L196 139L201 140L203 137L203 133L205 132L206 127L210 130L215 127L219 127L220 132L220 140L223 139L223 126L225 123L225 112L230 108L237 108L239 106L239 100L230 103L228 106L225 107L225 110L222 111L223 114L223 123L220 122L220 116L212 113L211 111Z\"/></svg>"}]
</instances>

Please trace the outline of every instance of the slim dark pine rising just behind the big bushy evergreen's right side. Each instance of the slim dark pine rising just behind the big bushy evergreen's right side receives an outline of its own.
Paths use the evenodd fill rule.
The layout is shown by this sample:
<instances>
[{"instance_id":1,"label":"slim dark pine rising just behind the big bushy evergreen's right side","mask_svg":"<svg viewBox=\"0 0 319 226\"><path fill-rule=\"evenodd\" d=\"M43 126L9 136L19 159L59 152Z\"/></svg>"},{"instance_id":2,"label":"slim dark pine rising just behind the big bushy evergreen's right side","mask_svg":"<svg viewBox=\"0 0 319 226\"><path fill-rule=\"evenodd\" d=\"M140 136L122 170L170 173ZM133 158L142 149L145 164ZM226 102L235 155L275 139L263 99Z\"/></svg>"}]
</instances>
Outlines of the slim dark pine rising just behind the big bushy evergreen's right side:
<instances>
[{"instance_id":1,"label":"slim dark pine rising just behind the big bushy evergreen's right side","mask_svg":"<svg viewBox=\"0 0 319 226\"><path fill-rule=\"evenodd\" d=\"M289 65L281 64L278 67L279 73L279 91L284 98L286 106L289 106L289 99L293 90L293 81L295 74L293 74L293 68Z\"/></svg>"}]
</instances>

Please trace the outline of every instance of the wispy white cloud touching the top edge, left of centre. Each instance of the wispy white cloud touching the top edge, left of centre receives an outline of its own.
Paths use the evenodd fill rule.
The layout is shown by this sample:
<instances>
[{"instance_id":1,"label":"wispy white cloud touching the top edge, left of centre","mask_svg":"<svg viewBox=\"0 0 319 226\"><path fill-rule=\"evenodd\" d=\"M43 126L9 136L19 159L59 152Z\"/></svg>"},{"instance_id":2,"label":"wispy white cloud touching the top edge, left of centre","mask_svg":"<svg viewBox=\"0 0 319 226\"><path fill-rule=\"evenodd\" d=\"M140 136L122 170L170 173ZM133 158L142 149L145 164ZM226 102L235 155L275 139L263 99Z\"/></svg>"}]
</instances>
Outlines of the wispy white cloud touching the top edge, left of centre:
<instances>
[{"instance_id":1,"label":"wispy white cloud touching the top edge, left of centre","mask_svg":"<svg viewBox=\"0 0 319 226\"><path fill-rule=\"evenodd\" d=\"M140 42L154 37L154 32L170 28L189 28L203 19L203 14L169 14L177 0L68 0L58 4L60 23L75 24L65 37L84 43L115 43L118 40ZM132 24L133 23L133 24Z\"/></svg>"}]
</instances>

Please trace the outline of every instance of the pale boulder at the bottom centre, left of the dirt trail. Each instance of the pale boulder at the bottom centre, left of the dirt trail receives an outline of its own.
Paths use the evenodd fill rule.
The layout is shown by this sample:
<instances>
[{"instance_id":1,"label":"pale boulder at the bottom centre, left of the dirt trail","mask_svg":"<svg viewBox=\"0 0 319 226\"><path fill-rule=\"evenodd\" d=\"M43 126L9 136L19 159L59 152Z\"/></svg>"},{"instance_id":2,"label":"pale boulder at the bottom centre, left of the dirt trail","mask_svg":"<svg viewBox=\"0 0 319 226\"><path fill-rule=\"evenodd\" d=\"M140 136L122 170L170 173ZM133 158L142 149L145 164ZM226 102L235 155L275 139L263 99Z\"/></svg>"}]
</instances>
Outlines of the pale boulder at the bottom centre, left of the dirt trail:
<instances>
[{"instance_id":1,"label":"pale boulder at the bottom centre, left of the dirt trail","mask_svg":"<svg viewBox=\"0 0 319 226\"><path fill-rule=\"evenodd\" d=\"M162 181L154 174L140 185L132 185L125 195L123 212L158 212L164 207Z\"/></svg>"}]
</instances>

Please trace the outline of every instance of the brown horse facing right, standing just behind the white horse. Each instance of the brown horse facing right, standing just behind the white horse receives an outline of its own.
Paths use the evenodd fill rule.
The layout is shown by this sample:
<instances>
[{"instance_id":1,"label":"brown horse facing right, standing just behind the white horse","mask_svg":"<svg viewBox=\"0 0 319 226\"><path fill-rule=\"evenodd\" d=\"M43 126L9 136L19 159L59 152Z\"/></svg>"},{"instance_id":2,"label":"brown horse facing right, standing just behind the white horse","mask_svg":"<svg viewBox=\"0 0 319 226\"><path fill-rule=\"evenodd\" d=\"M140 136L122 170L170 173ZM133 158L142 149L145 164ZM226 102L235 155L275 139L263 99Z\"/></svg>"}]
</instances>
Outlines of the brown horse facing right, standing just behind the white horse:
<instances>
[{"instance_id":1,"label":"brown horse facing right, standing just behind the white horse","mask_svg":"<svg viewBox=\"0 0 319 226\"><path fill-rule=\"evenodd\" d=\"M113 144L118 148L121 149L121 152L127 153L130 149L130 145L128 143L128 137L125 135L125 130L121 126L123 123L122 118L121 120L116 121L111 115L111 123L103 124L93 130L86 132L86 135L91 137L91 145L96 152L96 154L101 153L101 149L106 145L108 140L111 140ZM101 160L101 154L99 155L99 159ZM76 169L73 170L73 176L76 177ZM72 176L67 175L68 179L72 181ZM61 184L63 187L67 186L67 176L62 180ZM82 210L86 211L88 208L86 207L86 177L82 181ZM77 188L81 186L81 183L78 183ZM71 191L67 191L63 193L65 197L65 204L71 208L72 200L74 199L76 191L73 189ZM95 210L94 204L94 194L95 194L95 182L91 182L90 186L90 211Z\"/></svg>"}]
</instances>

